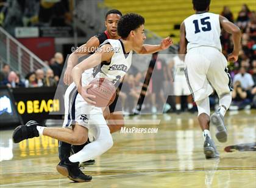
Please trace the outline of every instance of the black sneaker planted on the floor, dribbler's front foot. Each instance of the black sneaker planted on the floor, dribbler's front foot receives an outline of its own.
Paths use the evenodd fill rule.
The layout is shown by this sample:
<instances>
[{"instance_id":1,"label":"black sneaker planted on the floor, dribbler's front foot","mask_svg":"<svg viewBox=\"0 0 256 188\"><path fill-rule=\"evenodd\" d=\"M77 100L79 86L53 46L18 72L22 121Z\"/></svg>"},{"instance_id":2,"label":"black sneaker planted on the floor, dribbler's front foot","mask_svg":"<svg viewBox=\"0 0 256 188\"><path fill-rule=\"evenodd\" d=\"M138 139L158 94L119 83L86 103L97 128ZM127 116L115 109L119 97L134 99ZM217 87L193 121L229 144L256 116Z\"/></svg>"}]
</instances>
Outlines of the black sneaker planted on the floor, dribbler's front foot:
<instances>
[{"instance_id":1,"label":"black sneaker planted on the floor, dribbler's front foot","mask_svg":"<svg viewBox=\"0 0 256 188\"><path fill-rule=\"evenodd\" d=\"M85 175L79 169L79 162L72 163L68 158L60 161L60 163L56 166L56 169L61 175L66 176L75 182L86 182L91 181L92 179L91 176Z\"/></svg>"}]
</instances>

